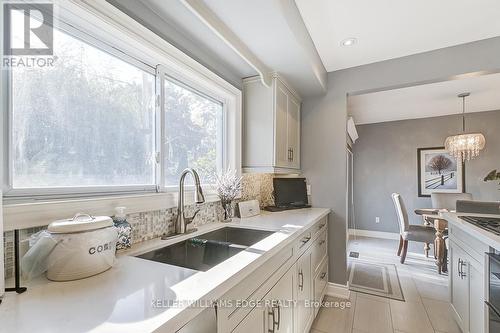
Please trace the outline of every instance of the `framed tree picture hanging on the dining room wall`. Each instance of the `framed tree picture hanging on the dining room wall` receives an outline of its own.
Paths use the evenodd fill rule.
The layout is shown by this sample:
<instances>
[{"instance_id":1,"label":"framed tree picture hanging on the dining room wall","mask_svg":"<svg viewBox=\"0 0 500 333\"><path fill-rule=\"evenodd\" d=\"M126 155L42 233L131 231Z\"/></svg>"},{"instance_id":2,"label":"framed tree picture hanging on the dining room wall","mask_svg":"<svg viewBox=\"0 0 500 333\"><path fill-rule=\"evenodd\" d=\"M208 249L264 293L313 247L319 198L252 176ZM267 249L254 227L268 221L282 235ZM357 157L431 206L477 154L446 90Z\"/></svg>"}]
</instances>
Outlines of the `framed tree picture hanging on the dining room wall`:
<instances>
[{"instance_id":1,"label":"framed tree picture hanging on the dining room wall","mask_svg":"<svg viewBox=\"0 0 500 333\"><path fill-rule=\"evenodd\" d=\"M465 165L444 147L418 148L418 196L465 192Z\"/></svg>"}]
</instances>

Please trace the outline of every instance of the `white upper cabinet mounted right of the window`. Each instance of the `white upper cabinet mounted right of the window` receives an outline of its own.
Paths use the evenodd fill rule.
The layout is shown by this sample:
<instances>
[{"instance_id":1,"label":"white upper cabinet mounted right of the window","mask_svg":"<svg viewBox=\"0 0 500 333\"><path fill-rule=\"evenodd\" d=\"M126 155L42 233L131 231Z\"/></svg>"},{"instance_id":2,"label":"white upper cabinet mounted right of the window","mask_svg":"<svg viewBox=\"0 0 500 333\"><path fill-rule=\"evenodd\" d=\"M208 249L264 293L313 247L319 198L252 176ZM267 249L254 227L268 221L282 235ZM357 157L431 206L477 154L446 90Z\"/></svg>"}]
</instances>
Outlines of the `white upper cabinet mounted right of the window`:
<instances>
[{"instance_id":1,"label":"white upper cabinet mounted right of the window","mask_svg":"<svg viewBox=\"0 0 500 333\"><path fill-rule=\"evenodd\" d=\"M300 172L300 97L277 74L243 80L243 171Z\"/></svg>"}]
</instances>

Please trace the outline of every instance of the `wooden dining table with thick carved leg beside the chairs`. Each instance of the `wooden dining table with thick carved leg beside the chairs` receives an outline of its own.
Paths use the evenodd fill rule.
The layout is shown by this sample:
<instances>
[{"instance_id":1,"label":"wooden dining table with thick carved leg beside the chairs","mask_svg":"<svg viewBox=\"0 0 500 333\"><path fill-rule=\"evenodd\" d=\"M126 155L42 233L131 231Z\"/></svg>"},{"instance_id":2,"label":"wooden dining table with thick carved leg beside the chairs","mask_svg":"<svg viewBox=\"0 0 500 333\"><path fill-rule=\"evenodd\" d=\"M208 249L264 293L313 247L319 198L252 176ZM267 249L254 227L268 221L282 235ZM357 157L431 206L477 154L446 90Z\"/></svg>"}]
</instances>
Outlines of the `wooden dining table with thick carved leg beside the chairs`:
<instances>
[{"instance_id":1,"label":"wooden dining table with thick carved leg beside the chairs","mask_svg":"<svg viewBox=\"0 0 500 333\"><path fill-rule=\"evenodd\" d=\"M446 212L447 209L438 208L418 208L415 209L415 214L422 216L425 225L433 226L436 230L434 238L434 258L436 258L436 266L438 273L448 272L448 251L444 237L448 229L448 221L439 217L440 212ZM426 254L429 252L429 244L424 247Z\"/></svg>"}]
</instances>

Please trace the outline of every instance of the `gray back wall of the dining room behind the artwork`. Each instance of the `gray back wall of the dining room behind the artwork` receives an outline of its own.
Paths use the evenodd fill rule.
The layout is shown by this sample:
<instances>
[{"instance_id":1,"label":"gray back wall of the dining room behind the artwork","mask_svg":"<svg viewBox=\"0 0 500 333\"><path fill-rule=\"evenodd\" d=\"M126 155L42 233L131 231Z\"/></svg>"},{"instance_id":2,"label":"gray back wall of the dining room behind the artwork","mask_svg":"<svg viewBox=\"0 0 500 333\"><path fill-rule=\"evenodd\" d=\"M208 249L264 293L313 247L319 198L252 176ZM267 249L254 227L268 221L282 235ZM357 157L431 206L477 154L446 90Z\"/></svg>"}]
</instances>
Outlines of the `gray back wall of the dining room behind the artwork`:
<instances>
[{"instance_id":1,"label":"gray back wall of the dining room behind the artwork","mask_svg":"<svg viewBox=\"0 0 500 333\"><path fill-rule=\"evenodd\" d=\"M468 114L467 129L482 132L486 147L479 158L466 163L466 191L478 200L500 200L498 182L484 176L500 169L500 111ZM448 135L460 132L457 115L392 121L358 126L354 145L354 216L349 228L399 232L391 193L402 195L410 223L422 224L413 211L431 207L430 198L418 197L417 148L443 146ZM375 223L380 217L380 223Z\"/></svg>"}]
</instances>

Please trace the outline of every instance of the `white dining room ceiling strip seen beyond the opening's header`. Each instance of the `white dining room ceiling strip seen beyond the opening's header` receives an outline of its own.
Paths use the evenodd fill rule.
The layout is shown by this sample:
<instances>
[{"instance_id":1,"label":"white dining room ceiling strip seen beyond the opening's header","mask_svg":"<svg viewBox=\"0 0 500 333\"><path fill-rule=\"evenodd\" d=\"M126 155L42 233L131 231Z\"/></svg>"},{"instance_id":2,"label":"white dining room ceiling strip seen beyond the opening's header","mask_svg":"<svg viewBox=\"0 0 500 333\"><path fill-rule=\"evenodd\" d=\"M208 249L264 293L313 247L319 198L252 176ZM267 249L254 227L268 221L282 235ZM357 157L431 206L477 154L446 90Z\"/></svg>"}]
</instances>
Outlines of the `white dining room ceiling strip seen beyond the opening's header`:
<instances>
[{"instance_id":1,"label":"white dining room ceiling strip seen beyond the opening's header","mask_svg":"<svg viewBox=\"0 0 500 333\"><path fill-rule=\"evenodd\" d=\"M466 112L500 110L500 74L466 77L407 88L349 96L348 112L357 125L457 114L459 93L470 92Z\"/></svg>"}]
</instances>

